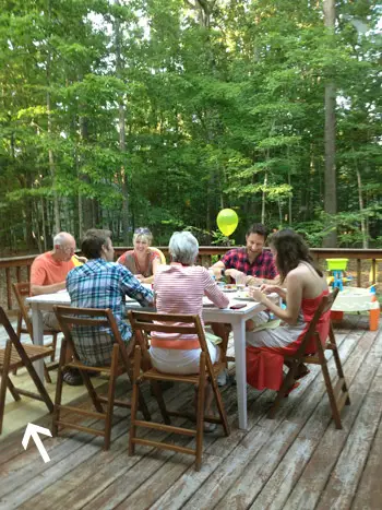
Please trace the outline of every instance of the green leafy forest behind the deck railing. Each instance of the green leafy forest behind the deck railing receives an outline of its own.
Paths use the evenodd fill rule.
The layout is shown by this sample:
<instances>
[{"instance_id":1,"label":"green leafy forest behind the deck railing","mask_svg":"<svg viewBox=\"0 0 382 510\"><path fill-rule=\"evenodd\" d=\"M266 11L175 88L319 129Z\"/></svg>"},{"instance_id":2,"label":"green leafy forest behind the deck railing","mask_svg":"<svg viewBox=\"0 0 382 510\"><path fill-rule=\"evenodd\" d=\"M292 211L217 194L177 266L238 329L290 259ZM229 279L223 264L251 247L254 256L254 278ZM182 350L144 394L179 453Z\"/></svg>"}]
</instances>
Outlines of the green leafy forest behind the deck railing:
<instances>
[{"instance_id":1,"label":"green leafy forest behind the deck railing","mask_svg":"<svg viewBox=\"0 0 382 510\"><path fill-rule=\"evenodd\" d=\"M148 226L382 240L381 4L0 0L1 253Z\"/></svg>"}]
</instances>

